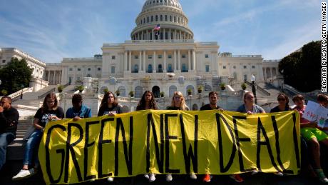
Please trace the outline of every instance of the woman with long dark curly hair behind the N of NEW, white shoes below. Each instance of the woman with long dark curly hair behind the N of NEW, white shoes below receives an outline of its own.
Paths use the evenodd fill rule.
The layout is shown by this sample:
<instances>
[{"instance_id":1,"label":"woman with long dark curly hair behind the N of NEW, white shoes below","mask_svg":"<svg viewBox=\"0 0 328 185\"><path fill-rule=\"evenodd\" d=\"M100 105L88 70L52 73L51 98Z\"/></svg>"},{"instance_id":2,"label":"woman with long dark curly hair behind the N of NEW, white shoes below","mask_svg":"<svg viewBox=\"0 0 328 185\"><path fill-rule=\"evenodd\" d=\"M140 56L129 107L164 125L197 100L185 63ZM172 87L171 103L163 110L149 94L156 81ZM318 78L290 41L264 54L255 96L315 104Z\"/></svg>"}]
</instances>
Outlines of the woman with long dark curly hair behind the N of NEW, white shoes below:
<instances>
[{"instance_id":1,"label":"woman with long dark curly hair behind the N of NEW, white shoes below","mask_svg":"<svg viewBox=\"0 0 328 185\"><path fill-rule=\"evenodd\" d=\"M136 110L142 111L142 110L148 110L148 109L158 110L156 101L154 99L153 92L151 92L151 91L145 91L143 93L143 96L140 99ZM144 176L146 179L149 180L149 182L153 182L156 180L155 174L145 174Z\"/></svg>"}]
</instances>

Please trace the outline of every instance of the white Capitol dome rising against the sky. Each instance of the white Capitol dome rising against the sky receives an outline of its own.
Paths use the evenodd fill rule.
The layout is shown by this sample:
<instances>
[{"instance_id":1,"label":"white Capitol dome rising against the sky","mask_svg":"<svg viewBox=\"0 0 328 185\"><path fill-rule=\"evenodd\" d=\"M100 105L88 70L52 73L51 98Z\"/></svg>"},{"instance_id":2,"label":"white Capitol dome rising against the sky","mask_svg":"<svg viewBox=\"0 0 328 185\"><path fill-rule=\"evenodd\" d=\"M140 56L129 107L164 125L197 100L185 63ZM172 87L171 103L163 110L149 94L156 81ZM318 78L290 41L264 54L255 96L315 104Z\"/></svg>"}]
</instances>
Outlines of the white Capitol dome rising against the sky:
<instances>
[{"instance_id":1,"label":"white Capitol dome rising against the sky","mask_svg":"<svg viewBox=\"0 0 328 185\"><path fill-rule=\"evenodd\" d=\"M132 40L190 40L193 31L178 0L147 0L135 19ZM154 31L156 25L159 31ZM157 33L156 33L157 32Z\"/></svg>"}]
</instances>

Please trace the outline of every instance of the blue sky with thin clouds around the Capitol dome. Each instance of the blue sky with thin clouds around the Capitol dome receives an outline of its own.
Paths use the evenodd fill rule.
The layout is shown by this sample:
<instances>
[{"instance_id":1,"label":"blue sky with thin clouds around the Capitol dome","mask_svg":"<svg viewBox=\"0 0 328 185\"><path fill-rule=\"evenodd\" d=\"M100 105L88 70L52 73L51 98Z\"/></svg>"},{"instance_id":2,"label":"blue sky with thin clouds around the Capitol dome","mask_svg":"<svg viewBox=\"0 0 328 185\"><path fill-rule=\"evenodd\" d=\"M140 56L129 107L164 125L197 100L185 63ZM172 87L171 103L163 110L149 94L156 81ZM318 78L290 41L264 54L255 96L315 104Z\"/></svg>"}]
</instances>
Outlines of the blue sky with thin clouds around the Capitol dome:
<instances>
[{"instance_id":1,"label":"blue sky with thin clouds around the Capitol dome","mask_svg":"<svg viewBox=\"0 0 328 185\"><path fill-rule=\"evenodd\" d=\"M130 40L145 0L0 0L0 48L46 63L93 57ZM319 0L180 0L195 41L219 52L282 59L321 39Z\"/></svg>"}]
</instances>

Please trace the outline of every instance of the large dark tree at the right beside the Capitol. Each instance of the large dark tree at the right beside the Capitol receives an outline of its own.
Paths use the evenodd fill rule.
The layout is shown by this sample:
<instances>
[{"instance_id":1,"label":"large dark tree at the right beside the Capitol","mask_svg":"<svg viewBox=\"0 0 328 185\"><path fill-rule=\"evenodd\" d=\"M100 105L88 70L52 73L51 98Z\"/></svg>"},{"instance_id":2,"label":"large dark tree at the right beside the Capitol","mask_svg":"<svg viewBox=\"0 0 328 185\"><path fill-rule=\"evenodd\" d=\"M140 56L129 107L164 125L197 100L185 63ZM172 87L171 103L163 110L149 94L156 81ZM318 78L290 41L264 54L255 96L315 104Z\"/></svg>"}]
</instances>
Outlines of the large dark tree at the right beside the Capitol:
<instances>
[{"instance_id":1,"label":"large dark tree at the right beside the Capitol","mask_svg":"<svg viewBox=\"0 0 328 185\"><path fill-rule=\"evenodd\" d=\"M279 64L284 83L299 91L314 91L321 86L321 41L312 41L286 56Z\"/></svg>"}]
</instances>

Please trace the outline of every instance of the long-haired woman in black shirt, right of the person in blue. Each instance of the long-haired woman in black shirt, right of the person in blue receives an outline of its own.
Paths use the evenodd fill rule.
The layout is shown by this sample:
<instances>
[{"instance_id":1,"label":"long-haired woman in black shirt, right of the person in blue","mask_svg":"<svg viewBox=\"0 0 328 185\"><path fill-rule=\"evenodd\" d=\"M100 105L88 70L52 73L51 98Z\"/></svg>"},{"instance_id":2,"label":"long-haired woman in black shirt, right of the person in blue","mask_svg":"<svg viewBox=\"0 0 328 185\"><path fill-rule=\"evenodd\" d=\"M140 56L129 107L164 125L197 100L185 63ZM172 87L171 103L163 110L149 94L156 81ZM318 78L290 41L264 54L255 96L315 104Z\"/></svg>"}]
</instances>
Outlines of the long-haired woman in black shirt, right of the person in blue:
<instances>
[{"instance_id":1,"label":"long-haired woman in black shirt, right of the person in blue","mask_svg":"<svg viewBox=\"0 0 328 185\"><path fill-rule=\"evenodd\" d=\"M116 99L116 96L111 91L106 92L101 100L101 107L99 108L98 116L114 116L115 114L121 113L123 113L122 107L118 105L118 99Z\"/></svg>"}]
</instances>

